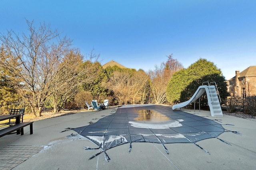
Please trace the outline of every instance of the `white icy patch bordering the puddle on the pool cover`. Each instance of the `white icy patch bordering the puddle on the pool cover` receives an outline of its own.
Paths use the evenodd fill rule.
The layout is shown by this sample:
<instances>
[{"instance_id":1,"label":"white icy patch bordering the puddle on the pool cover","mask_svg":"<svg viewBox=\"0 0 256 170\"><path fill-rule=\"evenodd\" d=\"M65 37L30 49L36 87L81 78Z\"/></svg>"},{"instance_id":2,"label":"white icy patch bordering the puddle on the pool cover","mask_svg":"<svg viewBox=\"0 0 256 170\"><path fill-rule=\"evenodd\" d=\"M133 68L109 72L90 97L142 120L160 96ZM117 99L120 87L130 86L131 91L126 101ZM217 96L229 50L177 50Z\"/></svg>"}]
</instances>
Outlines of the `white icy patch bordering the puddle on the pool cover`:
<instances>
[{"instance_id":1,"label":"white icy patch bordering the puddle on the pool cover","mask_svg":"<svg viewBox=\"0 0 256 170\"><path fill-rule=\"evenodd\" d=\"M138 127L138 128L150 128L150 129L169 129L170 127L180 127L182 124L180 124L176 120L170 120L164 123L144 123L144 122L138 122L138 121L129 121L131 126Z\"/></svg>"}]
</instances>

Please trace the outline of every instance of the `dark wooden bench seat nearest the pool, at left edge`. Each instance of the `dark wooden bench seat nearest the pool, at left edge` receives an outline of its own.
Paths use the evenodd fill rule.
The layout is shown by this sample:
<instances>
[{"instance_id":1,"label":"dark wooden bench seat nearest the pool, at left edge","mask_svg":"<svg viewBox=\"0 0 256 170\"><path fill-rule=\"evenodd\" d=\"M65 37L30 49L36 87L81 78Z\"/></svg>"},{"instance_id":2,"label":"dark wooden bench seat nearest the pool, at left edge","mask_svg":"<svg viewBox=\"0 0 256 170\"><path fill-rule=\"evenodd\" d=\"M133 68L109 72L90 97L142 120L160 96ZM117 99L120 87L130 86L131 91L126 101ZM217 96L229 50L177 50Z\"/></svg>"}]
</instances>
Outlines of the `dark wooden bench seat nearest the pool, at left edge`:
<instances>
[{"instance_id":1,"label":"dark wooden bench seat nearest the pool, at left edge","mask_svg":"<svg viewBox=\"0 0 256 170\"><path fill-rule=\"evenodd\" d=\"M33 121L31 121L31 122L17 123L13 126L9 126L9 127L4 128L4 129L1 129L0 130L0 137L3 137L4 135L10 134L14 131L17 131L17 135L18 134L24 135L23 128L25 126L28 126L28 125L30 125L30 134L33 134Z\"/></svg>"}]
</instances>

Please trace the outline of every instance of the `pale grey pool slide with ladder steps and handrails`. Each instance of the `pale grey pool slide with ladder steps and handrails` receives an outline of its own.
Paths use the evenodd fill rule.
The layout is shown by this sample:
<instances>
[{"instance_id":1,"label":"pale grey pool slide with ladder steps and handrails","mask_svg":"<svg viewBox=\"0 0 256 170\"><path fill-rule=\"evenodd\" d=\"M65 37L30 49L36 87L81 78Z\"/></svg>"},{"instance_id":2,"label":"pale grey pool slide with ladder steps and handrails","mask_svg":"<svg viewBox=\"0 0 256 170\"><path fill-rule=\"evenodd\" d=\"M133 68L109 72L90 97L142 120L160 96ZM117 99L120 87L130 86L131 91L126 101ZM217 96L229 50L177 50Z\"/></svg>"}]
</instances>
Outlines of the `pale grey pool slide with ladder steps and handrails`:
<instances>
[{"instance_id":1,"label":"pale grey pool slide with ladder steps and handrails","mask_svg":"<svg viewBox=\"0 0 256 170\"><path fill-rule=\"evenodd\" d=\"M215 82L214 82L215 83ZM172 109L178 109L182 108L185 106L188 106L189 104L193 103L196 101L200 96L202 96L206 92L207 94L207 99L208 99L208 106L210 107L210 112L212 116L223 116L221 107L220 107L220 100L219 100L219 95L217 94L216 91L216 86L211 85L202 85L199 86L192 98L186 102L182 102L179 104L174 104L172 106Z\"/></svg>"}]
</instances>

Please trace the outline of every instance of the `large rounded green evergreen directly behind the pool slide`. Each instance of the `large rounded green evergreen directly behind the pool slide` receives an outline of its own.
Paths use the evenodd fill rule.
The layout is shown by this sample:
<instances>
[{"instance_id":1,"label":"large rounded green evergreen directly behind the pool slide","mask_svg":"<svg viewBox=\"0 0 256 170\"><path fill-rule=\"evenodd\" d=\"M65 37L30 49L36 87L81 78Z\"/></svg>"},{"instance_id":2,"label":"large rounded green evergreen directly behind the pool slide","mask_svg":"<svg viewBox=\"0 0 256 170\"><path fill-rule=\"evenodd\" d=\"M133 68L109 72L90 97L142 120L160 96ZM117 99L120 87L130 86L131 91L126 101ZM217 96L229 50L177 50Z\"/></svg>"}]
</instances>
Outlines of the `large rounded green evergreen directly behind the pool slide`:
<instances>
[{"instance_id":1,"label":"large rounded green evergreen directly behind the pool slide","mask_svg":"<svg viewBox=\"0 0 256 170\"><path fill-rule=\"evenodd\" d=\"M172 103L184 102L192 97L202 82L216 82L220 96L228 96L225 79L220 69L206 59L199 59L187 69L172 76L167 86L167 100Z\"/></svg>"}]
</instances>

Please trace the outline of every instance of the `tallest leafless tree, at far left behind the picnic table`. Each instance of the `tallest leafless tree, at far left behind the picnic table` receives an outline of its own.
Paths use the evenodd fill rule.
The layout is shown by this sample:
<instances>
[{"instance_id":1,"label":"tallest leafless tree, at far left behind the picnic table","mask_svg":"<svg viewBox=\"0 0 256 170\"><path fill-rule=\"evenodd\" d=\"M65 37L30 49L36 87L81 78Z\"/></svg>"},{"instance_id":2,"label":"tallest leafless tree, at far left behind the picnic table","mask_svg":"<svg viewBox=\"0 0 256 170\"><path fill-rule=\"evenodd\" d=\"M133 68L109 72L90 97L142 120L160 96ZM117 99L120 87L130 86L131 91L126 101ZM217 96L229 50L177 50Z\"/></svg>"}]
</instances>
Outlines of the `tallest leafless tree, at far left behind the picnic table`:
<instances>
[{"instance_id":1,"label":"tallest leafless tree, at far left behind the picnic table","mask_svg":"<svg viewBox=\"0 0 256 170\"><path fill-rule=\"evenodd\" d=\"M62 70L64 54L70 51L71 41L60 38L57 30L52 31L50 25L41 23L36 29L33 21L26 21L28 35L22 36L10 30L7 35L1 34L0 40L8 55L0 61L1 67L10 71L10 81L23 96L36 116L41 115L46 98L52 95L57 77ZM71 81L71 79L70 79Z\"/></svg>"}]
</instances>

